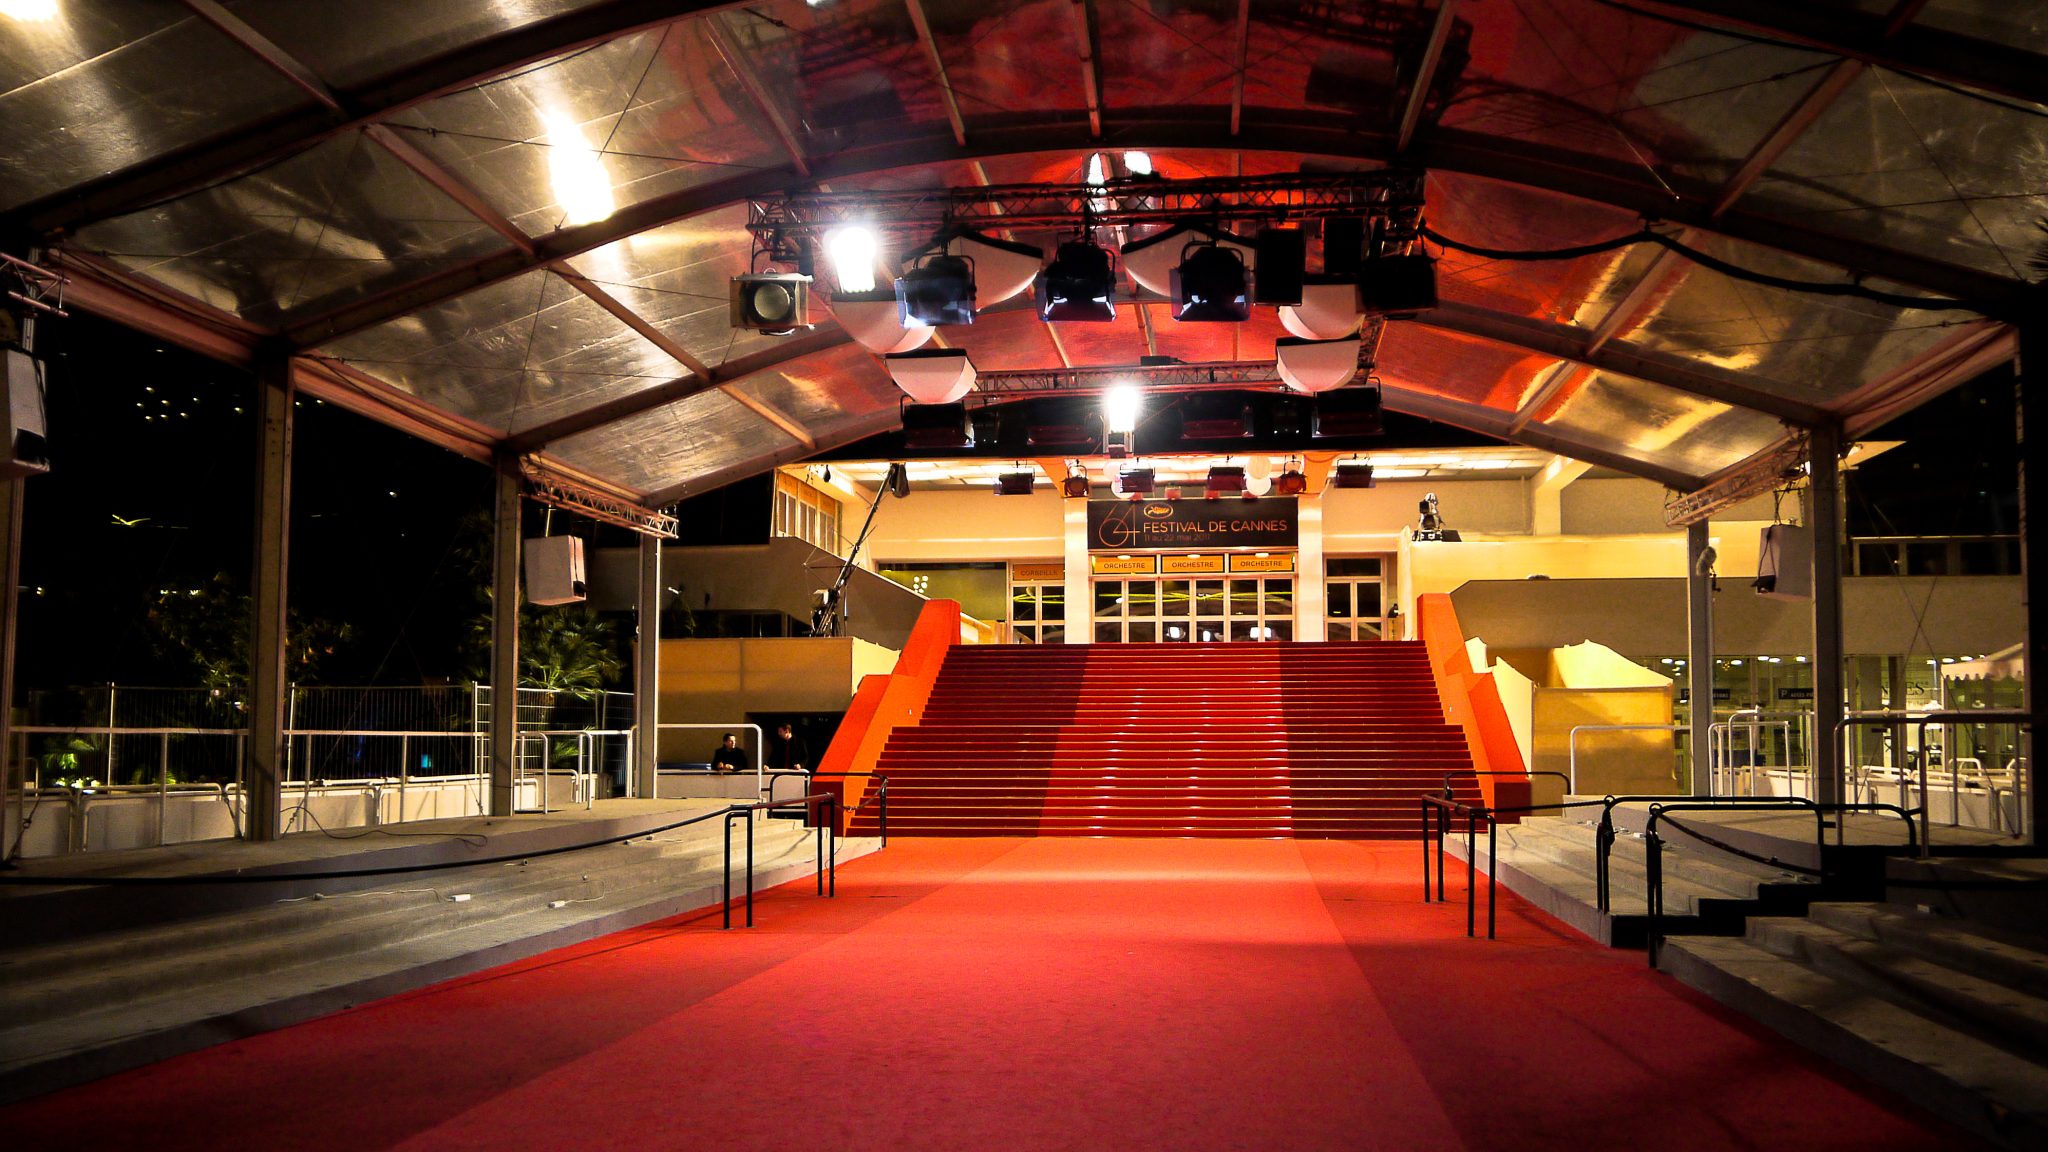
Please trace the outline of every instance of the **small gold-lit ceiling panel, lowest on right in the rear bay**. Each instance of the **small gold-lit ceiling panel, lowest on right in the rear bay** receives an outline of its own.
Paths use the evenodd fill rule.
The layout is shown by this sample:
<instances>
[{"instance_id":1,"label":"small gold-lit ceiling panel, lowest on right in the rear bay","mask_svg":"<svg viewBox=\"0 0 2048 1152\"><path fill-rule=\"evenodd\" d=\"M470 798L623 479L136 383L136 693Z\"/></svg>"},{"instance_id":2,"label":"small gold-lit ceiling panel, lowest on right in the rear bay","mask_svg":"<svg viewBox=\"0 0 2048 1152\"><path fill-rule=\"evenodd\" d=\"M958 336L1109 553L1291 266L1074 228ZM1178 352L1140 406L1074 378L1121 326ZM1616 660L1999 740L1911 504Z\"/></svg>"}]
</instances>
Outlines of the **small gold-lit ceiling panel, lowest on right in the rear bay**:
<instances>
[{"instance_id":1,"label":"small gold-lit ceiling panel, lowest on right in the rear bay","mask_svg":"<svg viewBox=\"0 0 2048 1152\"><path fill-rule=\"evenodd\" d=\"M1749 459L1786 430L1761 412L1606 371L1550 402L1538 426L1698 478Z\"/></svg>"}]
</instances>

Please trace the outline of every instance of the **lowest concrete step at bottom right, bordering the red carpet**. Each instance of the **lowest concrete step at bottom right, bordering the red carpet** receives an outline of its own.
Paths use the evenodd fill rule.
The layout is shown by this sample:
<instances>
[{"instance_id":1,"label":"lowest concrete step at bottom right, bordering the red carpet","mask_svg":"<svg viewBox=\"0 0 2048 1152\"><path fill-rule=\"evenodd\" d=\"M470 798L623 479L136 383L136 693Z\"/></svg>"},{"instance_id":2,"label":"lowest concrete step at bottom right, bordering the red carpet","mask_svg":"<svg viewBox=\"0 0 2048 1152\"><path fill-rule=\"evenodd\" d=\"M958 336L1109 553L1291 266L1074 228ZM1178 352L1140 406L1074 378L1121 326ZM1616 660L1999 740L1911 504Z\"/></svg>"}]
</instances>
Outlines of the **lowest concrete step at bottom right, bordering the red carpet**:
<instances>
[{"instance_id":1,"label":"lowest concrete step at bottom right, bordering the red carpet","mask_svg":"<svg viewBox=\"0 0 2048 1152\"><path fill-rule=\"evenodd\" d=\"M2048 1148L2048 1068L1753 939L1673 937L1659 968L1901 1099L2007 1148Z\"/></svg>"}]
</instances>

